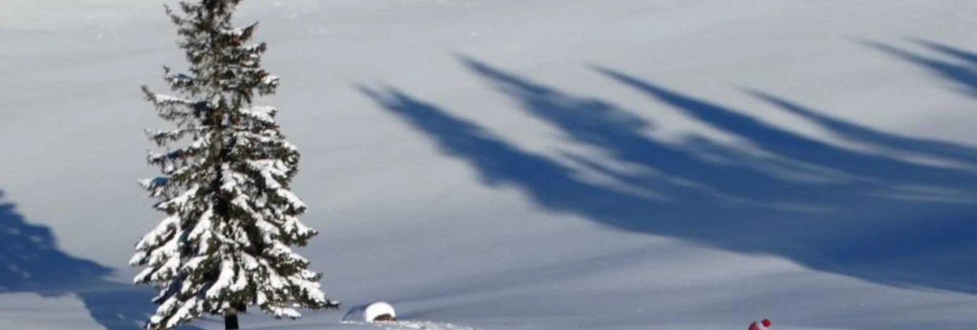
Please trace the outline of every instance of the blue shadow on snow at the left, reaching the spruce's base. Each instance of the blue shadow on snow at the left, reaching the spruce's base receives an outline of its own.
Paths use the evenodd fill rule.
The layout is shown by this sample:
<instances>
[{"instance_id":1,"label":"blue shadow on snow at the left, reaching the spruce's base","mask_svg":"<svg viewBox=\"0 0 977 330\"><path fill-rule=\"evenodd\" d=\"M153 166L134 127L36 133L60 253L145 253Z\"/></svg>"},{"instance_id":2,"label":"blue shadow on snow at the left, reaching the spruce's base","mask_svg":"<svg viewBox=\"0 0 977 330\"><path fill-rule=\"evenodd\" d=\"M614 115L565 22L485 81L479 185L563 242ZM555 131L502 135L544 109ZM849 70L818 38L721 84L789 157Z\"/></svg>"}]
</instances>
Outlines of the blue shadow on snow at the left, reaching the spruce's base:
<instances>
[{"instance_id":1,"label":"blue shadow on snow at the left, reaching the spruce's base","mask_svg":"<svg viewBox=\"0 0 977 330\"><path fill-rule=\"evenodd\" d=\"M27 223L16 208L0 190L0 293L73 295L108 330L143 328L154 310L151 290L106 280L111 268L67 255L50 228Z\"/></svg>"}]
</instances>

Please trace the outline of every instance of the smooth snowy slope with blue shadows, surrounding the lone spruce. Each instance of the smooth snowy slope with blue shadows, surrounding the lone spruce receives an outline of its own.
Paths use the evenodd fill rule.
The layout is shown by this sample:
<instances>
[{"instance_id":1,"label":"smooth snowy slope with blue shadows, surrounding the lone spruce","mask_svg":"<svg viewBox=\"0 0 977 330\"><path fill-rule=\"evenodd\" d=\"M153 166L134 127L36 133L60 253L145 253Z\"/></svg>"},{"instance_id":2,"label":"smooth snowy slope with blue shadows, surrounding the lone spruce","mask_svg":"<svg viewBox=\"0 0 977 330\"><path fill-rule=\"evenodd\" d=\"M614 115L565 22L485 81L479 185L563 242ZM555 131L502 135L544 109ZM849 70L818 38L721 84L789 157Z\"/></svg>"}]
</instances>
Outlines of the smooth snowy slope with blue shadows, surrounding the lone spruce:
<instances>
[{"instance_id":1,"label":"smooth snowy slope with blue shadows, surrounding the lone spruce","mask_svg":"<svg viewBox=\"0 0 977 330\"><path fill-rule=\"evenodd\" d=\"M243 329L977 329L973 0L250 0L343 309ZM136 329L159 1L0 1L0 329ZM403 322L342 322L383 300ZM223 329L219 318L188 329Z\"/></svg>"}]
</instances>

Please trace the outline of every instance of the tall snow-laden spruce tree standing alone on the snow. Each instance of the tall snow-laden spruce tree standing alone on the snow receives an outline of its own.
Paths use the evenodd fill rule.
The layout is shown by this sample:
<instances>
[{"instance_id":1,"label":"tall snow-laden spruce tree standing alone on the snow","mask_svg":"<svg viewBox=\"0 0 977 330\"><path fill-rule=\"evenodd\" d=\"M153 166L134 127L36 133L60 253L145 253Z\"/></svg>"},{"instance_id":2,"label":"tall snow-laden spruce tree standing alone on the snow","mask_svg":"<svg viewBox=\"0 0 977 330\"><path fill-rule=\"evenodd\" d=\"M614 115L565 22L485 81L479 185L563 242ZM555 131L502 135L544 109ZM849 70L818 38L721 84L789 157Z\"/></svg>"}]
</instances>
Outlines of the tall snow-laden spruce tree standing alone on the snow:
<instances>
[{"instance_id":1,"label":"tall snow-laden spruce tree standing alone on the snow","mask_svg":"<svg viewBox=\"0 0 977 330\"><path fill-rule=\"evenodd\" d=\"M148 329L172 329L204 314L258 306L276 318L298 308L338 308L319 289L321 274L292 252L317 234L299 222L306 206L289 183L299 152L279 133L276 109L252 104L278 79L260 67L265 44L248 44L255 24L234 27L240 0L181 2L166 8L179 26L188 73L165 69L175 96L144 86L170 130L148 131L162 175L141 181L166 218L136 244L137 284L159 289ZM179 145L173 145L179 144Z\"/></svg>"}]
</instances>

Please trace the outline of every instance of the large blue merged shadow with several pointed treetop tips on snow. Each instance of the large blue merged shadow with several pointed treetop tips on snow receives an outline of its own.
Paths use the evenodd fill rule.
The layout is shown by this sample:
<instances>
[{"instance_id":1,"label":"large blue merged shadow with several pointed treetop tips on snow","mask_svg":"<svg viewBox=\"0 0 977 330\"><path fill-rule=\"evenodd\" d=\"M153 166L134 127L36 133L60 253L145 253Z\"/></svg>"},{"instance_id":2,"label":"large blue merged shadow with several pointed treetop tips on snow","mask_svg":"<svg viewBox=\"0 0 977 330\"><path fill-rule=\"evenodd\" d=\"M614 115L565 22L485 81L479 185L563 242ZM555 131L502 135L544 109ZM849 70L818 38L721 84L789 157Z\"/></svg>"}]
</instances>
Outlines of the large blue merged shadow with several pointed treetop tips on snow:
<instances>
[{"instance_id":1,"label":"large blue merged shadow with several pointed treetop tips on snow","mask_svg":"<svg viewBox=\"0 0 977 330\"><path fill-rule=\"evenodd\" d=\"M755 94L848 139L952 158L957 167L855 151L598 68L753 147L702 136L664 143L646 132L655 123L614 103L575 97L474 59L461 61L575 142L648 171L622 173L600 165L607 159L574 155L584 168L627 187L583 181L578 170L520 149L432 103L391 87L359 88L431 137L446 154L467 161L488 185L516 186L556 211L625 230L780 255L809 268L886 285L977 293L972 275L977 271L973 148L877 132ZM930 146L940 147L933 151Z\"/></svg>"}]
</instances>

